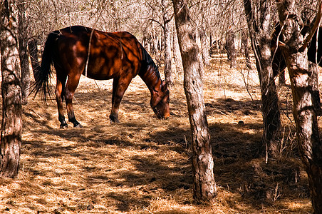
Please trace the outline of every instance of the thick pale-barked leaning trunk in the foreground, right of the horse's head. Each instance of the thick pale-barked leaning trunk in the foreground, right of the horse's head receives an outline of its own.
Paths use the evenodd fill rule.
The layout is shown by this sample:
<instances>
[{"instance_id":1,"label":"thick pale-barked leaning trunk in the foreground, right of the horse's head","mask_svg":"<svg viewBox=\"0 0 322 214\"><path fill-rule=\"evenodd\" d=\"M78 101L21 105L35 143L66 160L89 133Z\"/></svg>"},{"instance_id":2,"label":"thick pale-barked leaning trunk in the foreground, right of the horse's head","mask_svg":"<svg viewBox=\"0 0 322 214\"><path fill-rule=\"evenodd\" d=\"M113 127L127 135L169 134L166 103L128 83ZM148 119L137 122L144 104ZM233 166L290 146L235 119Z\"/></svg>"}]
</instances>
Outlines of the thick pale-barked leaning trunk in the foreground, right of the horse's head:
<instances>
[{"instance_id":1,"label":"thick pale-barked leaning trunk in the foreground, right of the horse's head","mask_svg":"<svg viewBox=\"0 0 322 214\"><path fill-rule=\"evenodd\" d=\"M184 66L184 86L192 133L192 173L194 199L200 203L212 200L217 187L214 183L214 161L209 128L204 109L202 78L199 73L198 46L192 35L187 1L173 0L179 46Z\"/></svg>"}]
</instances>

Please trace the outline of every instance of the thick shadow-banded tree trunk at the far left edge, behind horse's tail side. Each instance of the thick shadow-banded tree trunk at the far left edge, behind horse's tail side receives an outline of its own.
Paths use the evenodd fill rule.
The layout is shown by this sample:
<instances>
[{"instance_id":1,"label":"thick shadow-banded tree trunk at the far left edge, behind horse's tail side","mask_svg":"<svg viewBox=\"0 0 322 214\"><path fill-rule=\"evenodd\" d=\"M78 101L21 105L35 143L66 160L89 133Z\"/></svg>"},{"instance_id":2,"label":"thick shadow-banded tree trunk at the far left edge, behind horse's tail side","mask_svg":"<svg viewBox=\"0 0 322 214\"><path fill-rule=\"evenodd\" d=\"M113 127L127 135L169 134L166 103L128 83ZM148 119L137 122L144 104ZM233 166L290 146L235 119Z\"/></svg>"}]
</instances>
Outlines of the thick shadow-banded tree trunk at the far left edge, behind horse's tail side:
<instances>
[{"instance_id":1,"label":"thick shadow-banded tree trunk at the far left edge, behind horse's tail side","mask_svg":"<svg viewBox=\"0 0 322 214\"><path fill-rule=\"evenodd\" d=\"M18 9L14 0L0 5L2 126L0 175L18 174L21 146L21 80L18 35Z\"/></svg>"}]
</instances>

